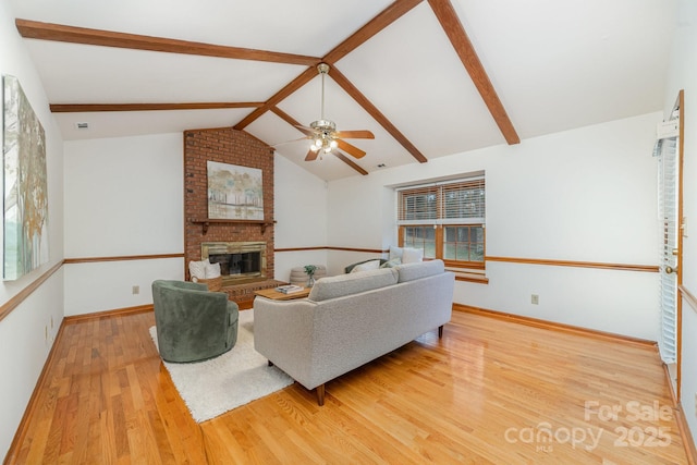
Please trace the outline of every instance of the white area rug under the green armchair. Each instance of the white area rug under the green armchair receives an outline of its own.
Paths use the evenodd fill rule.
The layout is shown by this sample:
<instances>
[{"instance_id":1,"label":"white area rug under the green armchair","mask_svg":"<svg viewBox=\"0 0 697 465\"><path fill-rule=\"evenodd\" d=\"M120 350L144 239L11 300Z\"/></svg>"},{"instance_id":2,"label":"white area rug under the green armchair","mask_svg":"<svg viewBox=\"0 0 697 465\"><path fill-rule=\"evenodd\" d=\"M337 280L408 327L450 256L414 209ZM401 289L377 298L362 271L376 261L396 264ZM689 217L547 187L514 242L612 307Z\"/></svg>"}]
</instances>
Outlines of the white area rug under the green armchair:
<instances>
[{"instance_id":1,"label":"white area rug under the green armchair","mask_svg":"<svg viewBox=\"0 0 697 465\"><path fill-rule=\"evenodd\" d=\"M157 331L150 328L157 347ZM271 394L293 379L254 350L254 310L240 311L237 343L210 360L193 364L163 362L176 390L197 423Z\"/></svg>"}]
</instances>

